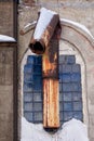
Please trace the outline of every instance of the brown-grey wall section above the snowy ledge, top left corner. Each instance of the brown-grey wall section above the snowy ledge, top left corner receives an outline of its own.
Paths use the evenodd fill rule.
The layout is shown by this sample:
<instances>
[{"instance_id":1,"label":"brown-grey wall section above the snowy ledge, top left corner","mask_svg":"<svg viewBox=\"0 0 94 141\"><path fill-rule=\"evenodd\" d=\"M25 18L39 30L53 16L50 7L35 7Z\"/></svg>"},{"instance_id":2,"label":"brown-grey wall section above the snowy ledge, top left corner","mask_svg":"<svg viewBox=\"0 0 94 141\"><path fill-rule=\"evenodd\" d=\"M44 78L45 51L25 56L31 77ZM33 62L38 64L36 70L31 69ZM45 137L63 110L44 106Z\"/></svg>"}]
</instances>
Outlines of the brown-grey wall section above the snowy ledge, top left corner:
<instances>
[{"instance_id":1,"label":"brown-grey wall section above the snowy ledge, top left corner","mask_svg":"<svg viewBox=\"0 0 94 141\"><path fill-rule=\"evenodd\" d=\"M0 35L13 37L13 2L0 1Z\"/></svg>"}]
</instances>

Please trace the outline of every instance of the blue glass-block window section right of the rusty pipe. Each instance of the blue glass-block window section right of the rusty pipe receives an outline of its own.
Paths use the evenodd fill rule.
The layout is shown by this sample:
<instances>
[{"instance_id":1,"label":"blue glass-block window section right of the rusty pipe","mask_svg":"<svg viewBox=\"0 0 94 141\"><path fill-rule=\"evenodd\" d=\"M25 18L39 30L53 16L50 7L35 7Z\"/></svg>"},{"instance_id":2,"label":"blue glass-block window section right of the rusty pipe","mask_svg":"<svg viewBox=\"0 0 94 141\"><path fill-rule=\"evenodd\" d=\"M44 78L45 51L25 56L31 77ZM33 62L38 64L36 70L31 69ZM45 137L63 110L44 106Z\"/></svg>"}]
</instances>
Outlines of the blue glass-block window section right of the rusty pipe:
<instances>
[{"instance_id":1,"label":"blue glass-block window section right of the rusty pipe","mask_svg":"<svg viewBox=\"0 0 94 141\"><path fill-rule=\"evenodd\" d=\"M81 68L75 55L59 56L59 107L61 123L82 120Z\"/></svg>"}]
</instances>

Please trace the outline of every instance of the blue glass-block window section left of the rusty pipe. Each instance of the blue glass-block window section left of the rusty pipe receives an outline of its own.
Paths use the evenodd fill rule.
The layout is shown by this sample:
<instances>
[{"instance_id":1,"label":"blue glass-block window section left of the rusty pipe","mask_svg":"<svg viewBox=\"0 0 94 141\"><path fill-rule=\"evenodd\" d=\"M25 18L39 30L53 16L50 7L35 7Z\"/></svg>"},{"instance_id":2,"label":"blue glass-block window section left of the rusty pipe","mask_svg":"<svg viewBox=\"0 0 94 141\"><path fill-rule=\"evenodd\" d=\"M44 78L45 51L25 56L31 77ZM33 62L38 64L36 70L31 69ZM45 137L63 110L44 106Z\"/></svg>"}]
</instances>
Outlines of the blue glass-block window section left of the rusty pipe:
<instances>
[{"instance_id":1,"label":"blue glass-block window section left of the rusty pipe","mask_svg":"<svg viewBox=\"0 0 94 141\"><path fill-rule=\"evenodd\" d=\"M24 66L24 116L31 123L42 123L41 62L41 56L29 55Z\"/></svg>"}]
</instances>

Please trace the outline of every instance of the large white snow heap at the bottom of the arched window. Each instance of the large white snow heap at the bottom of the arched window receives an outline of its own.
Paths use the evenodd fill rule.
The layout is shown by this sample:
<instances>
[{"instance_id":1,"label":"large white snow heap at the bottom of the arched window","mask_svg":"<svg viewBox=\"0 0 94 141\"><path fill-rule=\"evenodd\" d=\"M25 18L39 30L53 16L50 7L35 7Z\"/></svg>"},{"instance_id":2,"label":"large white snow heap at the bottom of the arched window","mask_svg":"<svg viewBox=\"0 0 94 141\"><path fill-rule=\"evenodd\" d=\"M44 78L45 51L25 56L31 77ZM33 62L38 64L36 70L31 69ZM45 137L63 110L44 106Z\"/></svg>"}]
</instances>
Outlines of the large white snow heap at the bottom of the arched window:
<instances>
[{"instance_id":1,"label":"large white snow heap at the bottom of the arched window","mask_svg":"<svg viewBox=\"0 0 94 141\"><path fill-rule=\"evenodd\" d=\"M75 118L65 123L56 133L51 134L42 124L35 125L22 117L21 141L89 141L86 126Z\"/></svg>"}]
</instances>

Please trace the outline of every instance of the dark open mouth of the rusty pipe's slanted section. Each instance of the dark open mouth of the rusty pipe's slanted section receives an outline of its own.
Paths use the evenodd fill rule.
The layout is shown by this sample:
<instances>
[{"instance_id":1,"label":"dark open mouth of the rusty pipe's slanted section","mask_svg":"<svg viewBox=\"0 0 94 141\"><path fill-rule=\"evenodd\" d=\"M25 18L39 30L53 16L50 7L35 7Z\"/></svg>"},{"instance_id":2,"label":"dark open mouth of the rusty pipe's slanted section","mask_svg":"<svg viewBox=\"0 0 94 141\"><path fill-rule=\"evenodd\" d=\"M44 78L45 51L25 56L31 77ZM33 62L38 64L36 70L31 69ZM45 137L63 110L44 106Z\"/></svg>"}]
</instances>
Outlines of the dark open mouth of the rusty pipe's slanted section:
<instances>
[{"instance_id":1,"label":"dark open mouth of the rusty pipe's slanted section","mask_svg":"<svg viewBox=\"0 0 94 141\"><path fill-rule=\"evenodd\" d=\"M29 43L29 48L36 54L43 54L45 52L45 47L40 41Z\"/></svg>"}]
</instances>

